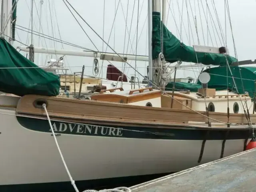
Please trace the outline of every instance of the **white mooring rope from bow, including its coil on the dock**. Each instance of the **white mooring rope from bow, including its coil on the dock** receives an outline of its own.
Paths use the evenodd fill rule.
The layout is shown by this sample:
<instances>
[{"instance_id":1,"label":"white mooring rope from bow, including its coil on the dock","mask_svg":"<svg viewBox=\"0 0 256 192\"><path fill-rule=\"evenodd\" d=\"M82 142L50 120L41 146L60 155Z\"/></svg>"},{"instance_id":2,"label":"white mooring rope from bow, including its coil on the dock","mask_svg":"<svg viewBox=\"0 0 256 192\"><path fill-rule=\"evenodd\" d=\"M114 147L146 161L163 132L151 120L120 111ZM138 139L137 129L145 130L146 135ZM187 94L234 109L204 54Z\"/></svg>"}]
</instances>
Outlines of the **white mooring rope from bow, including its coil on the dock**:
<instances>
[{"instance_id":1,"label":"white mooring rope from bow, including its coil on the dock","mask_svg":"<svg viewBox=\"0 0 256 192\"><path fill-rule=\"evenodd\" d=\"M61 152L61 150L60 150L60 146L59 146L59 144L58 144L58 141L57 141L55 132L54 132L54 130L53 130L53 128L52 128L52 123L51 123L51 120L50 120L48 111L47 111L47 109L46 109L46 104L45 104L45 103L42 104L42 107L44 108L44 111L45 111L45 113L46 113L46 116L47 116L47 119L48 119L48 122L49 122L49 125L50 125L50 128L51 128L51 131L52 131L52 135L53 135L53 137L54 137L54 141L55 141L56 146L57 146L57 148L58 148L58 151L59 151L59 153L60 153L61 160L62 160L62 162L63 162L63 164L64 164L64 167L65 167L65 169L66 169L66 172L67 172L67 174L68 174L68 177L69 177L69 179L70 179L70 182L71 182L72 186L74 187L75 191L76 191L76 192L79 192L78 188L76 187L75 181L73 180L73 178L72 178L72 176L71 176L71 174L70 174L70 172L69 172L69 170L68 170L68 166L66 165L66 162L65 162L65 160L64 160L64 157L63 157L63 155L62 155L62 152ZM97 191L97 190L90 190L90 189L89 189L89 190L85 190L85 191L83 191L83 192L132 192L132 190L130 190L130 189L127 188L127 187L118 187L118 188L114 188L114 189L104 189L104 190L100 190L100 191Z\"/></svg>"}]
</instances>

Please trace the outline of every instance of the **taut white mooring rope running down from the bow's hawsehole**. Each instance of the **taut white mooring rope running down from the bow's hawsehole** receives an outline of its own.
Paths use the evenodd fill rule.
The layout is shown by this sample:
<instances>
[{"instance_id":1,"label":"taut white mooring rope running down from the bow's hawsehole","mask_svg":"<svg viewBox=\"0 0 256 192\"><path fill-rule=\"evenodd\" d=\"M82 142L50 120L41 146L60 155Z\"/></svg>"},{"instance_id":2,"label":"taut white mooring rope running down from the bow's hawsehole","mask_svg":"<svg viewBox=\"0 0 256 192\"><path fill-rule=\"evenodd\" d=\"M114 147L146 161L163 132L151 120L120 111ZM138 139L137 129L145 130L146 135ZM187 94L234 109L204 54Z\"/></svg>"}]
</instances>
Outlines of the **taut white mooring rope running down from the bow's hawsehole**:
<instances>
[{"instance_id":1,"label":"taut white mooring rope running down from the bow's hawsehole","mask_svg":"<svg viewBox=\"0 0 256 192\"><path fill-rule=\"evenodd\" d=\"M55 135L54 130L53 130L53 128L52 128L52 124L51 124L51 120L50 120L49 114L48 114L47 109L46 109L46 104L44 103L44 104L42 105L42 107L44 108L44 111L45 111L45 113L46 113L46 116L47 116L47 119L48 119L50 128L51 128L51 130L52 130L52 135L53 135L53 137L54 137L54 140L55 140L56 146L57 146L57 148L58 148L58 151L59 151L59 153L60 153L61 160L62 160L62 162L63 162L63 164L64 164L64 166L65 166L66 172L68 173L70 182L71 182L71 184L73 185L75 191L76 191L76 192L79 192L78 188L76 187L75 181L73 180L73 178L72 178L72 176L71 176L71 174L70 174L70 172L69 172L69 170L68 170L68 167L67 167L66 162L65 162L65 160L64 160L64 157L63 157L63 155L62 155L62 152L61 152L61 150L60 150L60 146L59 146L59 144L58 144L56 135Z\"/></svg>"}]
</instances>

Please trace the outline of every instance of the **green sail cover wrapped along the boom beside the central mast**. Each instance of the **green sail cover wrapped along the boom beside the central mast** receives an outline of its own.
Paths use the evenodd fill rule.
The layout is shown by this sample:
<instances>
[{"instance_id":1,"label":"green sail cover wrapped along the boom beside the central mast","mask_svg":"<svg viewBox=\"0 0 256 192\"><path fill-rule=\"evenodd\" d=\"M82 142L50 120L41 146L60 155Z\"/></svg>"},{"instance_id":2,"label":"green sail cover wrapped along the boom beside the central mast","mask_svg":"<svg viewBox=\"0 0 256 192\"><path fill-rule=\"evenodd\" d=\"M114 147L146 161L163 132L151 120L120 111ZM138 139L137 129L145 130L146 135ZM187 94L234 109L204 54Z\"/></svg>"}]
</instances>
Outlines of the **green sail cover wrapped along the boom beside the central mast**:
<instances>
[{"instance_id":1,"label":"green sail cover wrapped along the boom beside the central mast","mask_svg":"<svg viewBox=\"0 0 256 192\"><path fill-rule=\"evenodd\" d=\"M153 12L153 26L152 26L152 57L158 58L161 52L161 25L163 34L163 54L167 62L193 62L202 63L205 65L220 65L226 66L226 56L223 54L195 52L193 47L186 46L178 38L176 38L167 28L162 24L159 12ZM198 61L196 59L198 58ZM227 56L229 64L236 62L236 58Z\"/></svg>"}]
</instances>

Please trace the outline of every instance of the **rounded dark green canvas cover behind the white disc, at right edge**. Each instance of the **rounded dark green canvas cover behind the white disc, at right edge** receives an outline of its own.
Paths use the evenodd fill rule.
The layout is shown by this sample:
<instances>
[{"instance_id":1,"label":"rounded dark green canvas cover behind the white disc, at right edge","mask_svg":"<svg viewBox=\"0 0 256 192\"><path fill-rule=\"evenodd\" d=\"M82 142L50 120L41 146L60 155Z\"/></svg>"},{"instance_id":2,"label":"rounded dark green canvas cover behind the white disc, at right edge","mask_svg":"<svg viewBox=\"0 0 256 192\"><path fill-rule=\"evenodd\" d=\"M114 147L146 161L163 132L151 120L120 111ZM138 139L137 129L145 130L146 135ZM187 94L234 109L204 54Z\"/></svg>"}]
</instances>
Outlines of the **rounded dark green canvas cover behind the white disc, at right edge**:
<instances>
[{"instance_id":1,"label":"rounded dark green canvas cover behind the white disc, at right edge","mask_svg":"<svg viewBox=\"0 0 256 192\"><path fill-rule=\"evenodd\" d=\"M254 81L256 80L256 67L239 67L239 66L230 66L232 74L234 76L234 80L236 82L236 86L238 90L235 89L234 81L230 74L230 70L228 69L228 88L233 91L238 92L239 94L244 94L245 92L249 93L249 96L253 98L254 94ZM240 72L242 76L240 76ZM204 72L208 72L210 74L210 81L208 82L208 88L215 88L216 90L226 90L227 89L227 67L219 66L214 68L209 68L204 70ZM198 81L198 84L201 84ZM243 90L244 86L244 90Z\"/></svg>"}]
</instances>

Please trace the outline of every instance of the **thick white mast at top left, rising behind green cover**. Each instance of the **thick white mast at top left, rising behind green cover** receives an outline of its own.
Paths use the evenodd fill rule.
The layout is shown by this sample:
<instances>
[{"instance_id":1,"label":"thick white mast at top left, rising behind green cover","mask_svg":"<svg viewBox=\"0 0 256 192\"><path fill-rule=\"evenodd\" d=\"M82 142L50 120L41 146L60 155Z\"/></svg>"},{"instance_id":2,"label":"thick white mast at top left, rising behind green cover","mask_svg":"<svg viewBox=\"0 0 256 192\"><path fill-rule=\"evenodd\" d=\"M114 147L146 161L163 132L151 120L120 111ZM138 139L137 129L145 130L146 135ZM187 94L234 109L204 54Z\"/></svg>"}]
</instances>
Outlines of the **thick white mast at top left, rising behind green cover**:
<instances>
[{"instance_id":1,"label":"thick white mast at top left, rising behind green cover","mask_svg":"<svg viewBox=\"0 0 256 192\"><path fill-rule=\"evenodd\" d=\"M1 37L12 44L12 0L0 0L1 5Z\"/></svg>"}]
</instances>

